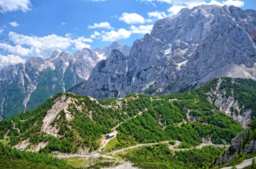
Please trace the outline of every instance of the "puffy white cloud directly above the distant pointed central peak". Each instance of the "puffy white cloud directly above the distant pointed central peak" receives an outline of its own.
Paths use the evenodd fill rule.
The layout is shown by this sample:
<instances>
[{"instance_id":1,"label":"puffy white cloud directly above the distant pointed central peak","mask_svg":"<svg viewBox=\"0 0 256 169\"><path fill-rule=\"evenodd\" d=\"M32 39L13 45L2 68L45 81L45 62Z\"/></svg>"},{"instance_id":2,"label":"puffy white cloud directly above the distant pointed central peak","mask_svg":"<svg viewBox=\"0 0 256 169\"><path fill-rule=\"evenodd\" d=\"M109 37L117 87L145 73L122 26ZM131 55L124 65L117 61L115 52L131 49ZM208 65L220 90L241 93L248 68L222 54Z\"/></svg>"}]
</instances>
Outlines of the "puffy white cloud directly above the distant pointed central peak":
<instances>
[{"instance_id":1,"label":"puffy white cloud directly above the distant pointed central peak","mask_svg":"<svg viewBox=\"0 0 256 169\"><path fill-rule=\"evenodd\" d=\"M119 29L118 31L111 30L110 32L102 31L102 41L115 41L118 39L126 39L129 38L132 34L131 31L127 31L123 28Z\"/></svg>"}]
</instances>

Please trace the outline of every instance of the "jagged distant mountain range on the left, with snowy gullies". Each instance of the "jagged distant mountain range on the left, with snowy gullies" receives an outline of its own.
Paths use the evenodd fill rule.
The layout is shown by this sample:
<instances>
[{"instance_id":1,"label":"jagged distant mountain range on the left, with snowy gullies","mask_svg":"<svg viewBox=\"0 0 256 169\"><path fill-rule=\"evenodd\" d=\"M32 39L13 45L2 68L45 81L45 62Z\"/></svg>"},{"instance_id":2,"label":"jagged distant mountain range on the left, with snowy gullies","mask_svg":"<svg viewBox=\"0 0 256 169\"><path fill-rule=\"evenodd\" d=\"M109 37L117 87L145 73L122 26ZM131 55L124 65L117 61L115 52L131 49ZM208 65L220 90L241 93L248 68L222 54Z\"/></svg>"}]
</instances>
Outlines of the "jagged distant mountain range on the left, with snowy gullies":
<instances>
[{"instance_id":1,"label":"jagged distant mountain range on the left, with snowy gullies","mask_svg":"<svg viewBox=\"0 0 256 169\"><path fill-rule=\"evenodd\" d=\"M0 71L1 115L10 117L31 110L59 92L86 81L97 62L118 49L129 54L130 46L114 41L103 49L84 48L75 54L54 51L50 58L30 57L25 64Z\"/></svg>"}]
</instances>

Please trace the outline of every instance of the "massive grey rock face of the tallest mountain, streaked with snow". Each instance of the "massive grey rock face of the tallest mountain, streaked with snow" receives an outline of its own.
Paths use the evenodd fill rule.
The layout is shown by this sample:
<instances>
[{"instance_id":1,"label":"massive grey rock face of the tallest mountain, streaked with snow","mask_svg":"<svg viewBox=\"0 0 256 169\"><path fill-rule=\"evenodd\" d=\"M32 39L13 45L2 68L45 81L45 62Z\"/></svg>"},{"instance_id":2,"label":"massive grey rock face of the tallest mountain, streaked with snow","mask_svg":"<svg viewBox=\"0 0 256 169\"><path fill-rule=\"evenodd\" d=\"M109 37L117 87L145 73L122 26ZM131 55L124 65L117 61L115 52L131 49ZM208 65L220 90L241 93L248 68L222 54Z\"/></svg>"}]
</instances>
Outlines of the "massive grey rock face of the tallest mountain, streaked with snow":
<instances>
[{"instance_id":1,"label":"massive grey rock face of the tallest mountain, streaked with snow","mask_svg":"<svg viewBox=\"0 0 256 169\"><path fill-rule=\"evenodd\" d=\"M151 34L136 40L127 63L119 52L112 53L120 59L99 62L90 82L73 92L104 99L128 93L169 94L218 76L256 80L255 19L255 10L234 6L184 8L158 20ZM119 63L109 64L111 59ZM121 75L112 67L120 65L127 65Z\"/></svg>"}]
</instances>

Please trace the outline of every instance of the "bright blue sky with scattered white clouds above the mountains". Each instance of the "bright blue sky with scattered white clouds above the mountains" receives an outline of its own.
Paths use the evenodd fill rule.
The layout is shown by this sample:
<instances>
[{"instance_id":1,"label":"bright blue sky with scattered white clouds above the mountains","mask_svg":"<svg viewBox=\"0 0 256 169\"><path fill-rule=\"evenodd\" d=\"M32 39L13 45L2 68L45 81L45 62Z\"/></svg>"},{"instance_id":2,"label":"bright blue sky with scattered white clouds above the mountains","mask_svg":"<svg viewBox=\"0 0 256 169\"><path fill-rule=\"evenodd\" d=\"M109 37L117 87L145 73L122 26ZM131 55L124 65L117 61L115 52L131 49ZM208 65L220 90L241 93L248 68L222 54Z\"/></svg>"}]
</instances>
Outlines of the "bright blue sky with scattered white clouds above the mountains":
<instances>
[{"instance_id":1,"label":"bright blue sky with scattered white clouds above the mountains","mask_svg":"<svg viewBox=\"0 0 256 169\"><path fill-rule=\"evenodd\" d=\"M256 9L255 0L0 0L0 69L54 50L132 45L156 20L201 4Z\"/></svg>"}]
</instances>

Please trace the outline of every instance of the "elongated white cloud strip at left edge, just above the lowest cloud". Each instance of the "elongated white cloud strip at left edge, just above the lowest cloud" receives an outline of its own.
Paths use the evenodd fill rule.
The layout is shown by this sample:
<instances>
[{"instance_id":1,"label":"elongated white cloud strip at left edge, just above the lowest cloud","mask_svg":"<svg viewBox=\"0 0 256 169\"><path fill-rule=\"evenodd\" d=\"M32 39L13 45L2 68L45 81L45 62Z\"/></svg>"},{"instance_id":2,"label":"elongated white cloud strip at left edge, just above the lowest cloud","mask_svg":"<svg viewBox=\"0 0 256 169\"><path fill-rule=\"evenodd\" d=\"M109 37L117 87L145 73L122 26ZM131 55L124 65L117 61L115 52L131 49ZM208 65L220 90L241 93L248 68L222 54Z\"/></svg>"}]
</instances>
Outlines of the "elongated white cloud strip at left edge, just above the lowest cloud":
<instances>
[{"instance_id":1,"label":"elongated white cloud strip at left edge, just above the lowest cloud","mask_svg":"<svg viewBox=\"0 0 256 169\"><path fill-rule=\"evenodd\" d=\"M19 56L30 56L32 55L32 50L24 48L20 45L12 46L6 43L0 43L0 48L4 49L5 51L8 51L12 54L16 54Z\"/></svg>"}]
</instances>

